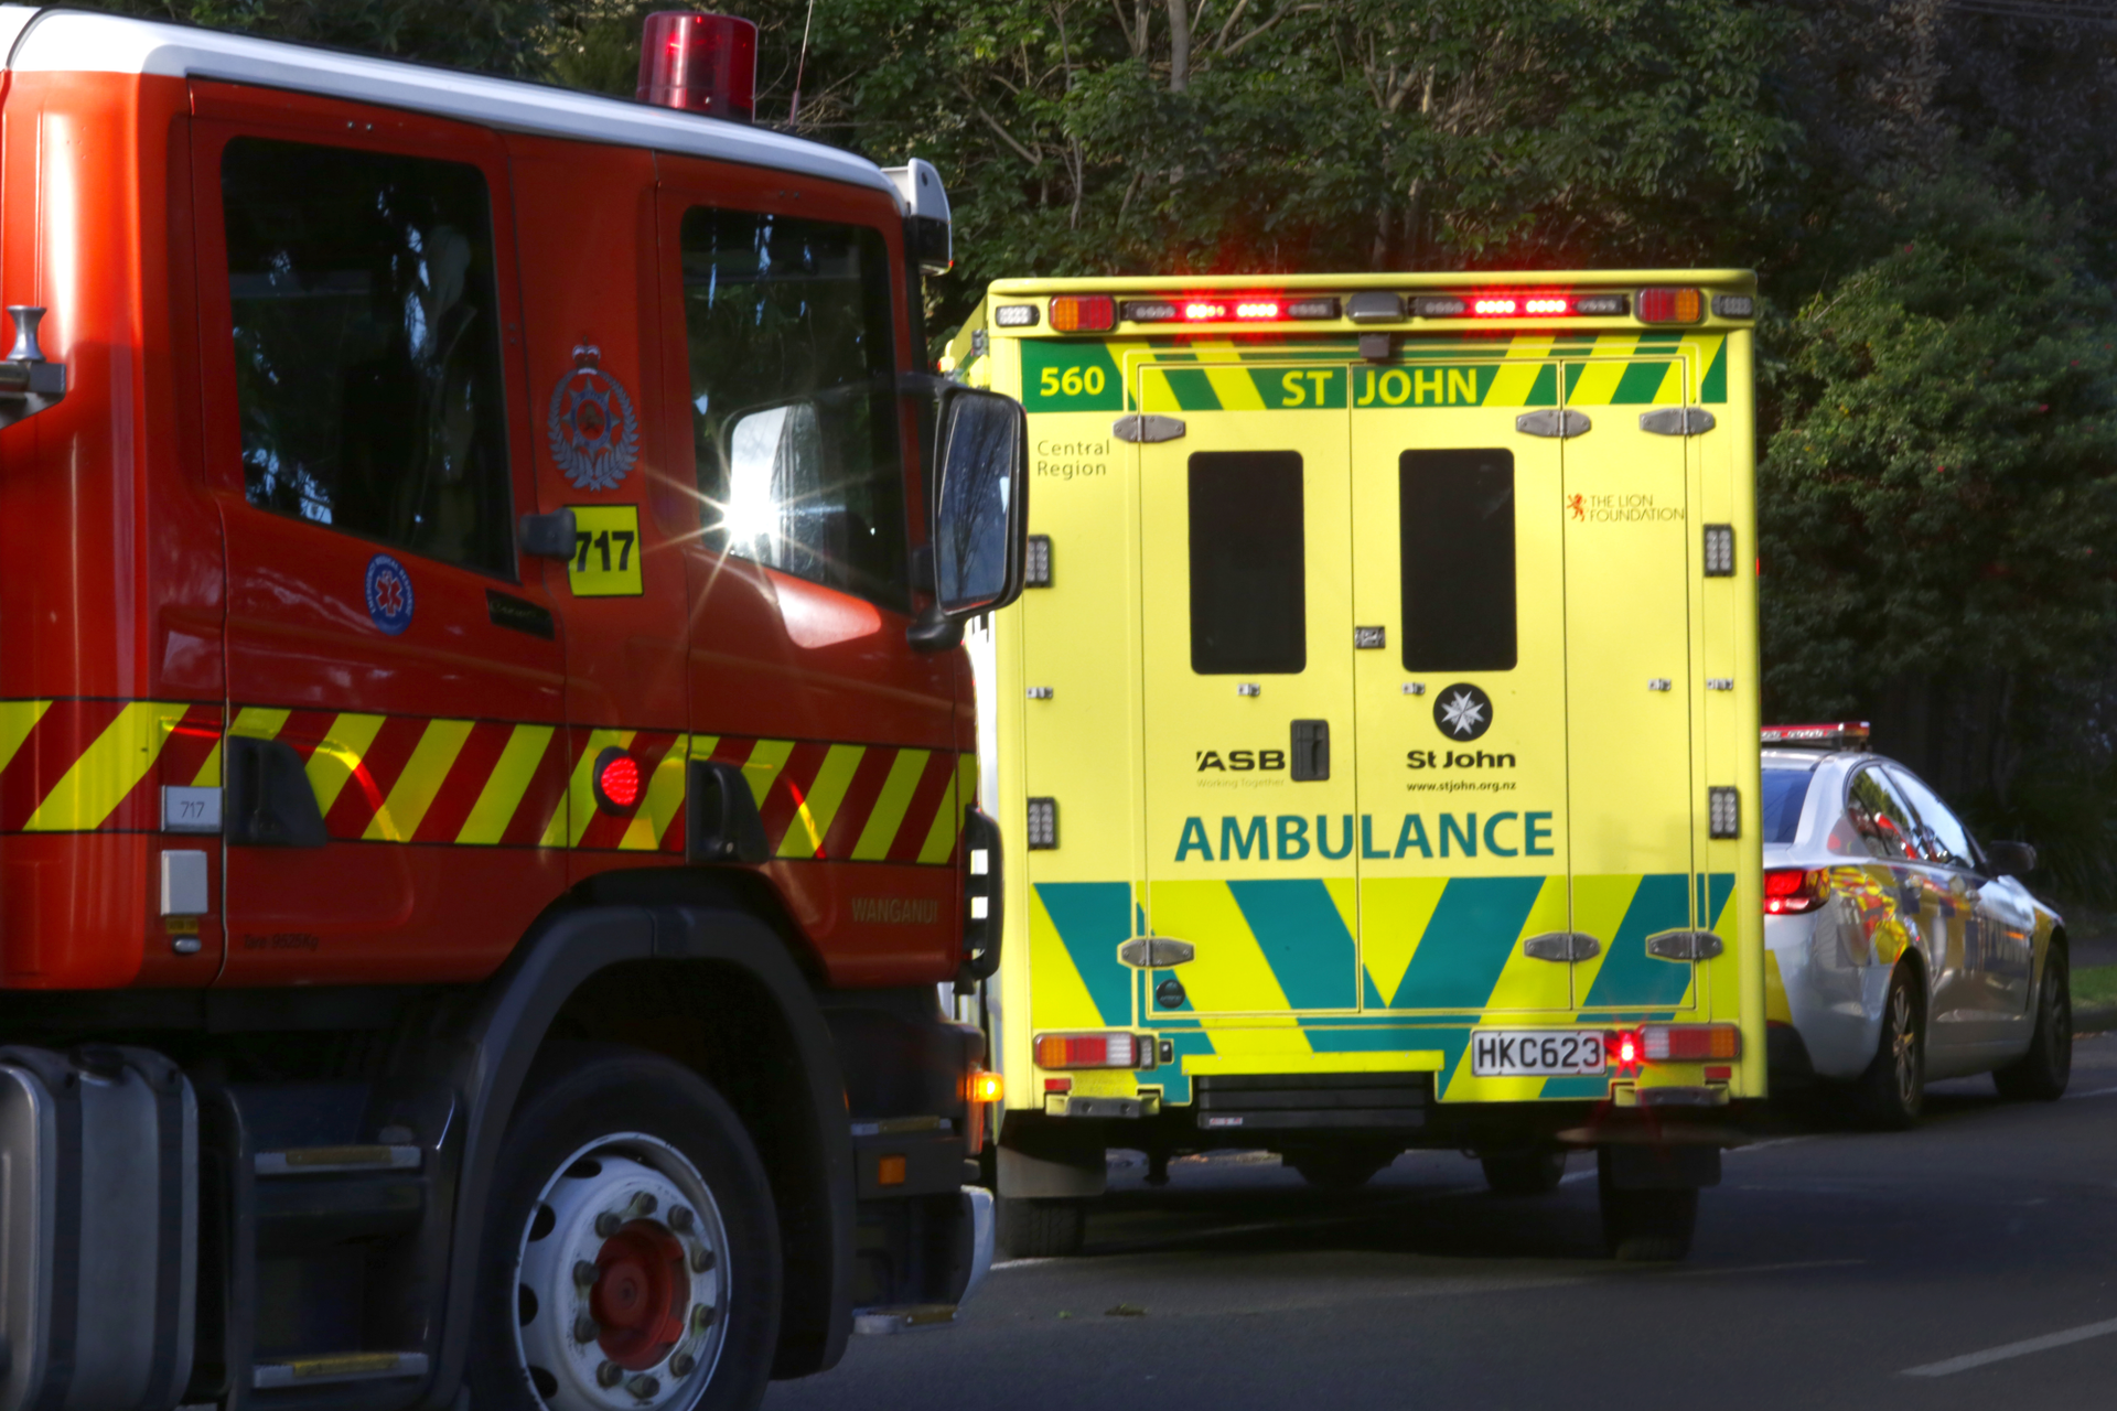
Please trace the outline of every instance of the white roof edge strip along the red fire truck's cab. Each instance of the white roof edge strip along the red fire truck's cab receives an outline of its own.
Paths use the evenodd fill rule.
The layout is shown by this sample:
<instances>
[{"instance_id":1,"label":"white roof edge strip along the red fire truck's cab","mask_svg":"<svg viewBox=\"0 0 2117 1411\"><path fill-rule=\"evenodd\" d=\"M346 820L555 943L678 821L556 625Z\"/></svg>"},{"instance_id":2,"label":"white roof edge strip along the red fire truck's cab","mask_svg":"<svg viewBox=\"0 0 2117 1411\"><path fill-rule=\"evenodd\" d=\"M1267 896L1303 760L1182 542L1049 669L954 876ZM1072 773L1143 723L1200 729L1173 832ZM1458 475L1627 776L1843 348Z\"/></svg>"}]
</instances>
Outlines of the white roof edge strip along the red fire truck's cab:
<instances>
[{"instance_id":1,"label":"white roof edge strip along the red fire truck's cab","mask_svg":"<svg viewBox=\"0 0 2117 1411\"><path fill-rule=\"evenodd\" d=\"M155 74L252 83L540 138L574 138L798 171L887 190L902 205L895 186L874 163L821 142L519 78L489 78L195 25L30 4L0 4L0 49L13 72Z\"/></svg>"}]
</instances>

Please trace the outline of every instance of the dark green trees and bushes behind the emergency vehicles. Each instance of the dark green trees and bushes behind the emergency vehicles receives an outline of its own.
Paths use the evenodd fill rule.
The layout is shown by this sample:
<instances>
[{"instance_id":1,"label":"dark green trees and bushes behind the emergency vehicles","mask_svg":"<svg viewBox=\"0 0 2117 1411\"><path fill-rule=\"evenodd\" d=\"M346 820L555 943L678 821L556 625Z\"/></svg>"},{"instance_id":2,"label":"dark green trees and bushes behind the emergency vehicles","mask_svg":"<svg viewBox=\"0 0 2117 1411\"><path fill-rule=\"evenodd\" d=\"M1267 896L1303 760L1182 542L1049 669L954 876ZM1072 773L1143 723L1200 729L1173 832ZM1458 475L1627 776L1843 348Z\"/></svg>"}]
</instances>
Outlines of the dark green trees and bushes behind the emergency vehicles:
<instances>
[{"instance_id":1,"label":"dark green trees and bushes behind the emergency vehicles","mask_svg":"<svg viewBox=\"0 0 2117 1411\"><path fill-rule=\"evenodd\" d=\"M112 8L631 93L654 6ZM1871 717L2117 901L2117 8L730 8L760 121L940 167L942 336L1023 273L1757 269L1768 717Z\"/></svg>"}]
</instances>

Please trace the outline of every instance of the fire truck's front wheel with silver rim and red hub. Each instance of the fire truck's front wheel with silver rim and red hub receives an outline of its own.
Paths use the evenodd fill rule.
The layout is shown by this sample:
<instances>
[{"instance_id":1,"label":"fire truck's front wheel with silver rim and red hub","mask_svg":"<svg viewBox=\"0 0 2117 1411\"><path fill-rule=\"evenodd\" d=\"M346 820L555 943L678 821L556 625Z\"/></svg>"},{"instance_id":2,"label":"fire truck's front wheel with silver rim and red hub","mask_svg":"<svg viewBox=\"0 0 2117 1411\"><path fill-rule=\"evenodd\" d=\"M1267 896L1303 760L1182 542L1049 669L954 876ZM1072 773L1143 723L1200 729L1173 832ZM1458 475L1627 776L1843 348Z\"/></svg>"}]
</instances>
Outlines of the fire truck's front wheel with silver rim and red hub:
<instances>
[{"instance_id":1,"label":"fire truck's front wheel with silver rim and red hub","mask_svg":"<svg viewBox=\"0 0 2117 1411\"><path fill-rule=\"evenodd\" d=\"M779 1341L779 1218L735 1111L631 1049L531 1083L485 1218L472 1405L756 1407Z\"/></svg>"}]
</instances>

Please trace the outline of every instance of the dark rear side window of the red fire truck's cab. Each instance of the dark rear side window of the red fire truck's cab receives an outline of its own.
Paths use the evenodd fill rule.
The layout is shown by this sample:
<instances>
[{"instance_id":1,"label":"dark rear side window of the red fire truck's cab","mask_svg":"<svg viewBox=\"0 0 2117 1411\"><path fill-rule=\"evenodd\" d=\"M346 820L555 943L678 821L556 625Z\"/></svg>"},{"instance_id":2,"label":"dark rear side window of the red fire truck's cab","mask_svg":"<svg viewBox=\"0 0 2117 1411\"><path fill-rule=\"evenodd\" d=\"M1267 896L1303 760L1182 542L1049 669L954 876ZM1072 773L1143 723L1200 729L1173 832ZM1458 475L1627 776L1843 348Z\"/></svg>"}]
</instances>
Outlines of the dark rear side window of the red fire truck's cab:
<instances>
[{"instance_id":1,"label":"dark rear side window of the red fire truck's cab","mask_svg":"<svg viewBox=\"0 0 2117 1411\"><path fill-rule=\"evenodd\" d=\"M485 173L235 138L220 201L250 503L514 578Z\"/></svg>"}]
</instances>

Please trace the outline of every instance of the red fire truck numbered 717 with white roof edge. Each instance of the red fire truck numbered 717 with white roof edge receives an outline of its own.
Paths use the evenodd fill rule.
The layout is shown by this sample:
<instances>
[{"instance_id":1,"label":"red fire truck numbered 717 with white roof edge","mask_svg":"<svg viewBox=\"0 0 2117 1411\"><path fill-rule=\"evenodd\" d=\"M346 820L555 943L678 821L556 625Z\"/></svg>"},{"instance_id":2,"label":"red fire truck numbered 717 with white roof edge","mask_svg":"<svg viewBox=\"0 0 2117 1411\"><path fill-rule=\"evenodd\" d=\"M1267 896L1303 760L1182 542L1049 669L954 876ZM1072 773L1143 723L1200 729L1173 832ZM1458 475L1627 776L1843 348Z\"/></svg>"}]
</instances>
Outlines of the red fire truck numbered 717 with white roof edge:
<instances>
[{"instance_id":1,"label":"red fire truck numbered 717 with white roof edge","mask_svg":"<svg viewBox=\"0 0 2117 1411\"><path fill-rule=\"evenodd\" d=\"M1023 415L754 44L0 6L0 1411L754 1405L982 1273Z\"/></svg>"}]
</instances>

